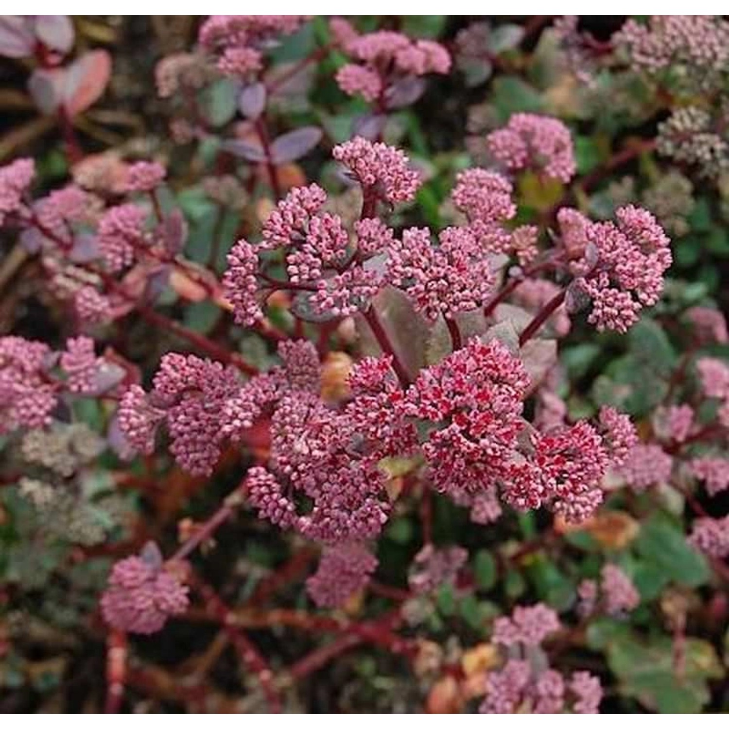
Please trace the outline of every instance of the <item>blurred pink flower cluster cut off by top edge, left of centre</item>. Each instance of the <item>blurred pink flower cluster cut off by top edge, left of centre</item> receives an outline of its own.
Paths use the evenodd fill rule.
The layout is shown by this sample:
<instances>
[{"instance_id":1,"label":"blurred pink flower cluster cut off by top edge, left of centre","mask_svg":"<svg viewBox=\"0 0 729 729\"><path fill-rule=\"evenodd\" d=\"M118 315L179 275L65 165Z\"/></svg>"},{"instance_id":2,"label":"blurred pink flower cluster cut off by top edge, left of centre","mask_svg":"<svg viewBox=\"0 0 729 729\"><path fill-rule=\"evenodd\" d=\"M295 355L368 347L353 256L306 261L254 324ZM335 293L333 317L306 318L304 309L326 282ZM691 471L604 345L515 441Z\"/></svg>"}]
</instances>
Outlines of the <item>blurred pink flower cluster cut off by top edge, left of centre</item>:
<instances>
[{"instance_id":1,"label":"blurred pink flower cluster cut off by top edge, left of centre","mask_svg":"<svg viewBox=\"0 0 729 729\"><path fill-rule=\"evenodd\" d=\"M260 71L263 54L278 36L295 33L306 15L211 15L200 27L199 40L217 56L218 68L234 77Z\"/></svg>"}]
</instances>

